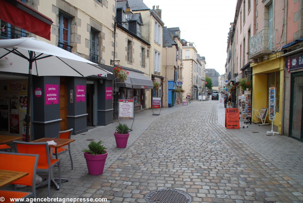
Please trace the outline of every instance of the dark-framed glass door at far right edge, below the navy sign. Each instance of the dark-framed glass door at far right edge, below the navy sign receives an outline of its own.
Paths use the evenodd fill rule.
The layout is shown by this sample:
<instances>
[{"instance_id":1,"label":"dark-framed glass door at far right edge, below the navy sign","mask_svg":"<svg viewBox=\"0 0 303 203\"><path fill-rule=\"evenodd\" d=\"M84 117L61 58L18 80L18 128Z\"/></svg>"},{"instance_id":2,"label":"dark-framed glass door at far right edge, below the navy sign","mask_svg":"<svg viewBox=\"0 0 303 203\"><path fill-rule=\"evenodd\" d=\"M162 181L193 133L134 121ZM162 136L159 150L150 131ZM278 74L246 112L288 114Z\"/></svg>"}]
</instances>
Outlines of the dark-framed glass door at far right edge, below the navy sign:
<instances>
[{"instance_id":1,"label":"dark-framed glass door at far right edge, below the navy sign","mask_svg":"<svg viewBox=\"0 0 303 203\"><path fill-rule=\"evenodd\" d=\"M303 109L303 73L293 73L291 76L291 115L290 136L303 140L302 109Z\"/></svg>"}]
</instances>

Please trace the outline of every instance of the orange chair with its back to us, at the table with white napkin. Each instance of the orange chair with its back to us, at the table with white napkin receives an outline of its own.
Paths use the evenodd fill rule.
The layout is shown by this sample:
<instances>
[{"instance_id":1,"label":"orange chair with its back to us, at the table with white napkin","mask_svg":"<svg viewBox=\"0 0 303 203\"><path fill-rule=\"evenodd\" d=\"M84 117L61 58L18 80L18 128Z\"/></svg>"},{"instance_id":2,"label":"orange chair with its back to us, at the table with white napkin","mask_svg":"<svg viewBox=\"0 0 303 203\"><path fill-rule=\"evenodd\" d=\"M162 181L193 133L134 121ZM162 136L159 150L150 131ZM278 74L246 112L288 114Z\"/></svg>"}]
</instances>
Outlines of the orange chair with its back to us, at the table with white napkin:
<instances>
[{"instance_id":1,"label":"orange chair with its back to us, at the table with white napkin","mask_svg":"<svg viewBox=\"0 0 303 203\"><path fill-rule=\"evenodd\" d=\"M61 166L59 159L51 159L47 142L20 142L13 141L15 150L24 154L39 154L37 171L48 172L48 180L36 187L48 184L48 197L50 197L50 185L52 180L52 169L58 166L59 169L59 187L61 187Z\"/></svg>"}]
</instances>

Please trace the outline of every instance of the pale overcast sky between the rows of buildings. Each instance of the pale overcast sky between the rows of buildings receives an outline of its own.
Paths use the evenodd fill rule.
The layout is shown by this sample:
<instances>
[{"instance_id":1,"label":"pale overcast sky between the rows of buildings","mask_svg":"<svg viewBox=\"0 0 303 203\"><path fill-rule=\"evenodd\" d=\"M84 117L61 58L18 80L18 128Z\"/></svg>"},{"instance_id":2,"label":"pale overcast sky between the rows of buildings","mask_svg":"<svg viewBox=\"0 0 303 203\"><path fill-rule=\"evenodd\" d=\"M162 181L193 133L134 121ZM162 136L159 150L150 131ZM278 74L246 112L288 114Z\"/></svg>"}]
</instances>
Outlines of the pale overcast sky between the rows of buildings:
<instances>
[{"instance_id":1,"label":"pale overcast sky between the rows of buildings","mask_svg":"<svg viewBox=\"0 0 303 203\"><path fill-rule=\"evenodd\" d=\"M227 34L234 21L236 0L143 0L162 9L164 26L179 27L181 39L194 42L206 68L225 73Z\"/></svg>"}]
</instances>

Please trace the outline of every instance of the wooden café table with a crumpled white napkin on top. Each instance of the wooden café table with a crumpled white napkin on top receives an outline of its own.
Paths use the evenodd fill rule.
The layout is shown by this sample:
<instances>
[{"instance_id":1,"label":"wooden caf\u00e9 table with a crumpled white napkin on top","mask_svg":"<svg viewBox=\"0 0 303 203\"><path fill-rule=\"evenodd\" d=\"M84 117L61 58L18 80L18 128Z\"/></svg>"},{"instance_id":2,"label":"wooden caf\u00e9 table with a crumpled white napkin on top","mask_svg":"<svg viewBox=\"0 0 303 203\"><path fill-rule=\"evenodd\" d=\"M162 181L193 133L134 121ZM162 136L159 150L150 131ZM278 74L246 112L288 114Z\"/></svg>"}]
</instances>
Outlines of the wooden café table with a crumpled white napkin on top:
<instances>
[{"instance_id":1,"label":"wooden caf\u00e9 table with a crumpled white napkin on top","mask_svg":"<svg viewBox=\"0 0 303 203\"><path fill-rule=\"evenodd\" d=\"M59 147L64 147L65 145L71 143L71 142L74 142L76 141L75 139L60 139L60 138L48 138L48 137L44 137L44 138L41 138L41 139L38 139L38 140L34 140L32 142L47 142L47 141L52 141L54 140L55 143L57 143L57 145L48 145L49 147L49 152L50 152L50 155L52 156L52 147L55 147L56 150L57 148ZM52 168L52 174L51 174L51 179L52 179L52 183L54 184L55 188L57 188L57 190L59 190L59 185L57 183L57 181L59 180L59 178L53 178L54 177L54 171L53 171L54 168ZM57 180L57 181L56 181ZM68 178L61 178L61 181L68 181Z\"/></svg>"}]
</instances>

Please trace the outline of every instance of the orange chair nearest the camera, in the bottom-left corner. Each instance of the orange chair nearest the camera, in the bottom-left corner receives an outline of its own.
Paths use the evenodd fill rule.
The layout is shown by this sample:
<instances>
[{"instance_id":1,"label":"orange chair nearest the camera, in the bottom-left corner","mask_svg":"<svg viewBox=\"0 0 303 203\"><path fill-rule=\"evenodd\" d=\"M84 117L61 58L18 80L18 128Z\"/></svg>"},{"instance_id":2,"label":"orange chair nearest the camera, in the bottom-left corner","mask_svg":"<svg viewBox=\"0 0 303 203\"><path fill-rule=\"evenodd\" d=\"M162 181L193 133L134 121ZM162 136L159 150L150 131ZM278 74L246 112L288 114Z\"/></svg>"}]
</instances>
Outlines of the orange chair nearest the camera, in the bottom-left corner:
<instances>
[{"instance_id":1,"label":"orange chair nearest the camera, in the bottom-left corner","mask_svg":"<svg viewBox=\"0 0 303 203\"><path fill-rule=\"evenodd\" d=\"M22 171L27 172L23 178L20 178L12 184L20 185L27 185L32 186L32 193L24 193L24 192L17 192L17 191L7 191L3 192L0 191L0 197L5 197L3 195L7 195L7 197L15 198L24 197L22 195L30 195L34 198L36 197L36 173L37 173L37 166L38 166L38 159L39 155L37 154L20 154L20 153L9 153L9 152L0 152L0 169L2 170L9 170L9 171ZM22 167L20 167L22 166ZM17 189L15 187L15 189ZM7 198L5 198L7 199ZM8 198L9 200L9 198Z\"/></svg>"}]
</instances>

